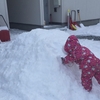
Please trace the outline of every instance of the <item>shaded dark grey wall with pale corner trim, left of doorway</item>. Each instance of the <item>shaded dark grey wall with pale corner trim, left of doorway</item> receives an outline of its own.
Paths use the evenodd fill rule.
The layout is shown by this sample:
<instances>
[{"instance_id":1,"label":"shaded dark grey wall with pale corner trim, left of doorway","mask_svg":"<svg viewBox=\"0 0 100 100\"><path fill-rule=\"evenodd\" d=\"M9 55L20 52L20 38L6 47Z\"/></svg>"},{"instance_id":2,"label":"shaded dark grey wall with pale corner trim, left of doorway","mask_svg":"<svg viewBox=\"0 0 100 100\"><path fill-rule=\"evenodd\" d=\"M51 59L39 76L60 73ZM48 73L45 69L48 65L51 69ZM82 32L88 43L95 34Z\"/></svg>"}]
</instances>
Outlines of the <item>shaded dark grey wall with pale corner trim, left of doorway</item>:
<instances>
[{"instance_id":1,"label":"shaded dark grey wall with pale corner trim, left of doorway","mask_svg":"<svg viewBox=\"0 0 100 100\"><path fill-rule=\"evenodd\" d=\"M13 23L43 25L43 0L7 0Z\"/></svg>"}]
</instances>

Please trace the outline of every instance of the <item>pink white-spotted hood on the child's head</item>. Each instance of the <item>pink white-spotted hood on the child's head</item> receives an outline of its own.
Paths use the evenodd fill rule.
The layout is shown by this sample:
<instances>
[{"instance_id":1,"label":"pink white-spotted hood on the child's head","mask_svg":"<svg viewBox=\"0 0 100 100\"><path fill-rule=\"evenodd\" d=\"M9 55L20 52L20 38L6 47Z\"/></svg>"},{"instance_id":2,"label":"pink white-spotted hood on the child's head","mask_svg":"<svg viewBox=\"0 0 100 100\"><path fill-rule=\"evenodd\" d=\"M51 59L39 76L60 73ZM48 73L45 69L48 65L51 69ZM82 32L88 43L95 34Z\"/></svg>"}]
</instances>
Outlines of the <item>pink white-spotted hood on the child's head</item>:
<instances>
[{"instance_id":1,"label":"pink white-spotted hood on the child's head","mask_svg":"<svg viewBox=\"0 0 100 100\"><path fill-rule=\"evenodd\" d=\"M75 35L69 36L65 43L64 50L69 53L78 48L81 48L78 38Z\"/></svg>"}]
</instances>

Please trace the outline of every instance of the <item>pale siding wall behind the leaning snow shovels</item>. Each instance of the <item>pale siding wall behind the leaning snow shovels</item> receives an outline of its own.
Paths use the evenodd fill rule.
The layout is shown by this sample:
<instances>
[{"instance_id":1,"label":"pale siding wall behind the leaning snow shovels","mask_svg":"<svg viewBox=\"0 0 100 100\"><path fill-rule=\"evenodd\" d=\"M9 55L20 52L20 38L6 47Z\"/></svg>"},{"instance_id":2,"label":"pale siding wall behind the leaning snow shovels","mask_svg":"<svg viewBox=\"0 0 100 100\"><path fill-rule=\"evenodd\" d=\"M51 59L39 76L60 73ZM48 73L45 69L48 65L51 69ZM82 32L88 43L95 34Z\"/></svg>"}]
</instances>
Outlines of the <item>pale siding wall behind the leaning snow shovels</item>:
<instances>
[{"instance_id":1,"label":"pale siding wall behind the leaning snow shovels","mask_svg":"<svg viewBox=\"0 0 100 100\"><path fill-rule=\"evenodd\" d=\"M80 10L81 20L92 20L100 18L100 0L61 0L62 19L66 22L67 10ZM77 18L77 17L76 17ZM76 19L78 21L78 18Z\"/></svg>"}]
</instances>

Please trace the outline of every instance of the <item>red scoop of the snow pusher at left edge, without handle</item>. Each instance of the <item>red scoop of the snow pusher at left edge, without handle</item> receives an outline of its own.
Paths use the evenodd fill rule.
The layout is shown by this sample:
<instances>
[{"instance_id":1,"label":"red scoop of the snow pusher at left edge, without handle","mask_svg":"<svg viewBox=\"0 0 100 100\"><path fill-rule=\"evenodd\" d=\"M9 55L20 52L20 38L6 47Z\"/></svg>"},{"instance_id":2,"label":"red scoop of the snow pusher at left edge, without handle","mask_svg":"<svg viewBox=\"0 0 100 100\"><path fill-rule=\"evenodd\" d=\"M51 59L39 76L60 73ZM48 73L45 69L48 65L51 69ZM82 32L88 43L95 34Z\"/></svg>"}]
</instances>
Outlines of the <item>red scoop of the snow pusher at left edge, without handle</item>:
<instances>
[{"instance_id":1,"label":"red scoop of the snow pusher at left edge, without handle","mask_svg":"<svg viewBox=\"0 0 100 100\"><path fill-rule=\"evenodd\" d=\"M9 30L0 30L0 40L2 42L10 41Z\"/></svg>"}]
</instances>

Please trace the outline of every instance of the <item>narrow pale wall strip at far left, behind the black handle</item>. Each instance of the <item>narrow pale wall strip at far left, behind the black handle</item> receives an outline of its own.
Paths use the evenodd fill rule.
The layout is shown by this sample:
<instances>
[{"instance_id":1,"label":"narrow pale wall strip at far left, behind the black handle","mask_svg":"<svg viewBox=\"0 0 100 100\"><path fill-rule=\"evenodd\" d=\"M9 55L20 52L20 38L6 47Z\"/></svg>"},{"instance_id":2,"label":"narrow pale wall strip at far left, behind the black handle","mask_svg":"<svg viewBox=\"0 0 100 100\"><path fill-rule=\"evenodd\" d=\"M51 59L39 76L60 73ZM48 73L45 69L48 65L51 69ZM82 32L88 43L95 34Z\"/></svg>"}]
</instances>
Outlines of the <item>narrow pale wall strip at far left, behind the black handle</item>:
<instances>
[{"instance_id":1,"label":"narrow pale wall strip at far left, behind the black handle","mask_svg":"<svg viewBox=\"0 0 100 100\"><path fill-rule=\"evenodd\" d=\"M8 18L8 10L7 10L7 3L6 0L0 0L0 15L3 15L8 27L9 27L9 18ZM5 22L0 17L0 26L5 26Z\"/></svg>"}]
</instances>

